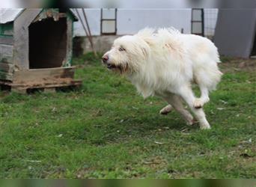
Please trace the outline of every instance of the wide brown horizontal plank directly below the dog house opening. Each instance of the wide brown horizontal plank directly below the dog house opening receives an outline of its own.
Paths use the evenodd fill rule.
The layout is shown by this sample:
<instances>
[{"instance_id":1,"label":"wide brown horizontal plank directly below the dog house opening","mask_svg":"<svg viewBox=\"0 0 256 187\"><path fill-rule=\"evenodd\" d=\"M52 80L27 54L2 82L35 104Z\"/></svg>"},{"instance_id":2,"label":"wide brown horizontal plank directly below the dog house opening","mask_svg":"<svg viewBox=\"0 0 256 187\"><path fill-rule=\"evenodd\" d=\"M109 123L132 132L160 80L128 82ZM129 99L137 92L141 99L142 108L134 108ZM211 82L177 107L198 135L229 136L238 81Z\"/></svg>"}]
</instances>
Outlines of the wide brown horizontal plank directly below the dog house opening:
<instances>
[{"instance_id":1,"label":"wide brown horizontal plank directly below the dog house opening","mask_svg":"<svg viewBox=\"0 0 256 187\"><path fill-rule=\"evenodd\" d=\"M42 81L46 79L73 78L75 67L57 67L15 71L13 82Z\"/></svg>"}]
</instances>

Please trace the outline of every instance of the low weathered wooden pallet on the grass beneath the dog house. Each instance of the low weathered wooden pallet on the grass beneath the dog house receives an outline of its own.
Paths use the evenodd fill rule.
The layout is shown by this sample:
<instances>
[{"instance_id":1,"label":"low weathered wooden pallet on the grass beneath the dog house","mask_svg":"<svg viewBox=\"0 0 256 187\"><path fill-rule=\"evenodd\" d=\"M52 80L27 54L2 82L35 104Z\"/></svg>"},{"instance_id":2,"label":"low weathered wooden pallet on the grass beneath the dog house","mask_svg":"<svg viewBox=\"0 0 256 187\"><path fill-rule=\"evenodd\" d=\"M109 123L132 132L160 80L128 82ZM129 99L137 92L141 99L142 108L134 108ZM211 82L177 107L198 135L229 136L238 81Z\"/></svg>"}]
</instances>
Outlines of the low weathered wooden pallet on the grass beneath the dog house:
<instances>
[{"instance_id":1,"label":"low weathered wooden pallet on the grass beneath the dog house","mask_svg":"<svg viewBox=\"0 0 256 187\"><path fill-rule=\"evenodd\" d=\"M4 82L0 81L1 90L13 91L16 93L33 93L43 91L45 93L54 93L58 90L76 89L82 85L82 80L64 79L47 79L34 82Z\"/></svg>"}]
</instances>

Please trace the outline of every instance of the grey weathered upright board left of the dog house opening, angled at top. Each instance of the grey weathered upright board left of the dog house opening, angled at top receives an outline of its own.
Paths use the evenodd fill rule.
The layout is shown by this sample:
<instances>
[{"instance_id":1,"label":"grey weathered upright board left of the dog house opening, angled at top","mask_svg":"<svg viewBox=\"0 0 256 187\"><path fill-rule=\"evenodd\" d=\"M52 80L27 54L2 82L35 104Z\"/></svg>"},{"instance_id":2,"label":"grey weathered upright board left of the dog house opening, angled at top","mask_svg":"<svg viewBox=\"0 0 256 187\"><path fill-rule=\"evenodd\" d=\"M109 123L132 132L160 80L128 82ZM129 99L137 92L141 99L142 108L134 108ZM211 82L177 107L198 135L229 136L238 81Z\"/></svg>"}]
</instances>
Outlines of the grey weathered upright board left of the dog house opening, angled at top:
<instances>
[{"instance_id":1,"label":"grey weathered upright board left of the dog house opening, angled at top","mask_svg":"<svg viewBox=\"0 0 256 187\"><path fill-rule=\"evenodd\" d=\"M28 70L28 26L40 13L41 8L24 10L14 21L13 63L22 70Z\"/></svg>"}]
</instances>

